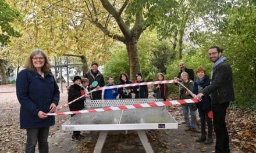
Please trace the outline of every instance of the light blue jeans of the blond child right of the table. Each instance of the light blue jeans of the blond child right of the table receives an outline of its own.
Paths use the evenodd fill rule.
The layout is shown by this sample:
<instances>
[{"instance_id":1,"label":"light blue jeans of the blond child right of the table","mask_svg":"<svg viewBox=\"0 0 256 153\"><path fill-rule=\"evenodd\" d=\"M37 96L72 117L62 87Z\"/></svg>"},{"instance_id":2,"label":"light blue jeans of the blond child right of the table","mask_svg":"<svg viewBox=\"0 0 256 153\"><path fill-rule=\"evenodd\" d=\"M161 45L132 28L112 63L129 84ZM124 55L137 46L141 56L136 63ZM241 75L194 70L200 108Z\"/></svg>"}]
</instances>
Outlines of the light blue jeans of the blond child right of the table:
<instances>
[{"instance_id":1,"label":"light blue jeans of the blond child right of the table","mask_svg":"<svg viewBox=\"0 0 256 153\"><path fill-rule=\"evenodd\" d=\"M191 107L195 107L193 105L182 105L182 112L184 115L184 119L186 121L186 125L191 128L197 128L197 115L196 111L191 111ZM190 111L190 117L189 117Z\"/></svg>"}]
</instances>

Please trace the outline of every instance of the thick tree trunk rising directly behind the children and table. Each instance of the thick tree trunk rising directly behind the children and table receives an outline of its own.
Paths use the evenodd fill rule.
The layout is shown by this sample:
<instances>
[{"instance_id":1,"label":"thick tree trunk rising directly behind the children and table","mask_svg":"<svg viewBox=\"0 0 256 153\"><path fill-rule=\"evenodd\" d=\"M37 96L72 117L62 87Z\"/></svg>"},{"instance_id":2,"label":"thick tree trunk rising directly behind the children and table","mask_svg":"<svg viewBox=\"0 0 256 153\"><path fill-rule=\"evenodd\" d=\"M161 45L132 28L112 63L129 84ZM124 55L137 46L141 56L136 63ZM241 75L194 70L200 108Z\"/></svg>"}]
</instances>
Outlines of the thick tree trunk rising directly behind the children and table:
<instances>
[{"instance_id":1,"label":"thick tree trunk rising directly behind the children and table","mask_svg":"<svg viewBox=\"0 0 256 153\"><path fill-rule=\"evenodd\" d=\"M129 56L130 80L136 80L136 73L140 72L140 56L138 55L138 45L136 40L126 42L126 48Z\"/></svg>"}]
</instances>

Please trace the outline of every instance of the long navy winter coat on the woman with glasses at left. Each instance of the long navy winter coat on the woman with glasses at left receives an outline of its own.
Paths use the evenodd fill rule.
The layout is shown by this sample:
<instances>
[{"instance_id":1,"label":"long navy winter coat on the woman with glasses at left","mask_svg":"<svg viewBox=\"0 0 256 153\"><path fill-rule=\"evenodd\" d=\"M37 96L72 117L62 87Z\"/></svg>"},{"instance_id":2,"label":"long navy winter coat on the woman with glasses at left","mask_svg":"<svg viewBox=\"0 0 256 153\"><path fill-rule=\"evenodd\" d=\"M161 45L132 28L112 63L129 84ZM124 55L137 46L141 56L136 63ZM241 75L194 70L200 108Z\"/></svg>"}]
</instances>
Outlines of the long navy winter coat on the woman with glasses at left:
<instances>
[{"instance_id":1,"label":"long navy winter coat on the woman with glasses at left","mask_svg":"<svg viewBox=\"0 0 256 153\"><path fill-rule=\"evenodd\" d=\"M20 128L44 128L54 125L54 116L40 119L39 111L49 112L51 103L58 105L59 88L51 72L44 78L37 72L22 70L17 75L16 94L20 102Z\"/></svg>"}]
</instances>

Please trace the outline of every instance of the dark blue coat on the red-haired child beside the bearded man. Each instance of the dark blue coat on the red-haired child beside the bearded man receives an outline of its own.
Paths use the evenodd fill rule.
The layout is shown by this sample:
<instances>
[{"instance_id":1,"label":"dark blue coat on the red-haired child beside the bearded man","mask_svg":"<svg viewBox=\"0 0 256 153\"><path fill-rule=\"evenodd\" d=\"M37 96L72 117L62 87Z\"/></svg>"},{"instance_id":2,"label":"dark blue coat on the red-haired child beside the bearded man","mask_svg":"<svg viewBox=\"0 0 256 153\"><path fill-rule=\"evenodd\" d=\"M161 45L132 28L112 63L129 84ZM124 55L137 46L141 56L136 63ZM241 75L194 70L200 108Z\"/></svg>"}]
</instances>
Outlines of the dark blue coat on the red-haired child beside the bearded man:
<instances>
[{"instance_id":1,"label":"dark blue coat on the red-haired child beside the bearded man","mask_svg":"<svg viewBox=\"0 0 256 153\"><path fill-rule=\"evenodd\" d=\"M196 79L194 82L194 89L193 93L198 94L202 91L202 89L205 89L209 84L211 83L211 80L209 79L208 75L205 75L204 78L202 78L202 81L200 79ZM210 109L211 108L211 98L209 95L203 96L202 100L197 103L198 108L203 109Z\"/></svg>"}]
</instances>

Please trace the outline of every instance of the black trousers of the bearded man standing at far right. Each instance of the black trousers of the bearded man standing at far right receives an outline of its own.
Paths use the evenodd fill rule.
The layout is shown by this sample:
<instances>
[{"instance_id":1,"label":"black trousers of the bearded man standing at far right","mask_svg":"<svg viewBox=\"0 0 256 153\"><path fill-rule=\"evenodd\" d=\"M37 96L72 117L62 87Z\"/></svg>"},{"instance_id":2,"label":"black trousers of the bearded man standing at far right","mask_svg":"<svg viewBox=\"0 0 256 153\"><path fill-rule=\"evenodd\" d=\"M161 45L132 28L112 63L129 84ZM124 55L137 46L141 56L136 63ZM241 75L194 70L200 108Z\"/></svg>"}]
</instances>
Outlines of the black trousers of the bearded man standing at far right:
<instances>
[{"instance_id":1,"label":"black trousers of the bearded man standing at far right","mask_svg":"<svg viewBox=\"0 0 256 153\"><path fill-rule=\"evenodd\" d=\"M228 103L212 105L212 112L214 114L214 131L216 133L215 152L229 153L229 133L225 123Z\"/></svg>"}]
</instances>

